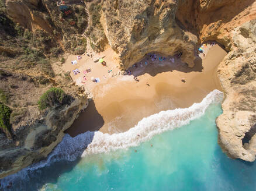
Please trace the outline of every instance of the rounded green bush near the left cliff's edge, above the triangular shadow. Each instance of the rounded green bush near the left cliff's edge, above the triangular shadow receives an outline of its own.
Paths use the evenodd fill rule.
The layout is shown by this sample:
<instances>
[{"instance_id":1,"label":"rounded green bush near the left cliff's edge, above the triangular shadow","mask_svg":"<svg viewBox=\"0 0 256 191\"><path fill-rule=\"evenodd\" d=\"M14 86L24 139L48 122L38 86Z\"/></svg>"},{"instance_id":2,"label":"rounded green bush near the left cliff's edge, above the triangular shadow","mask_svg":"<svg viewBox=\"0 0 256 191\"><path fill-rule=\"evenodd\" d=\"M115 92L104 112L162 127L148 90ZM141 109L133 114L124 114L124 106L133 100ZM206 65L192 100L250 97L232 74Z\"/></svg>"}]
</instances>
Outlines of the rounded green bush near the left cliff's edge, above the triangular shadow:
<instances>
[{"instance_id":1,"label":"rounded green bush near the left cliff's edge, above the triangular shadow","mask_svg":"<svg viewBox=\"0 0 256 191\"><path fill-rule=\"evenodd\" d=\"M50 90L47 90L46 93L41 95L40 100L38 101L39 109L43 110L46 108L52 108L55 104L63 104L65 97L65 92L56 87L52 87Z\"/></svg>"}]
</instances>

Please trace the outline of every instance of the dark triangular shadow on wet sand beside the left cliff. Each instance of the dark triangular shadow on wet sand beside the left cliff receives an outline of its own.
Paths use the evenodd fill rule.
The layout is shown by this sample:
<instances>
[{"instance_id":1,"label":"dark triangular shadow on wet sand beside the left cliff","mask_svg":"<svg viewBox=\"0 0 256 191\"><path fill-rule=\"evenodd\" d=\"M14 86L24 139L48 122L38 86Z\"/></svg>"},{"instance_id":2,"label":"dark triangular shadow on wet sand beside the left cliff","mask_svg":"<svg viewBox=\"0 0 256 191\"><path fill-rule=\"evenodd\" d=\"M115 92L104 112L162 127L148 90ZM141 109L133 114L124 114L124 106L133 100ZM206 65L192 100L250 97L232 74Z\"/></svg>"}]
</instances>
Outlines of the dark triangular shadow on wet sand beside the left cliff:
<instances>
[{"instance_id":1,"label":"dark triangular shadow on wet sand beside the left cliff","mask_svg":"<svg viewBox=\"0 0 256 191\"><path fill-rule=\"evenodd\" d=\"M65 130L71 137L87 131L97 131L104 125L104 120L95 107L94 100L89 101L88 107L82 111L70 128Z\"/></svg>"}]
</instances>

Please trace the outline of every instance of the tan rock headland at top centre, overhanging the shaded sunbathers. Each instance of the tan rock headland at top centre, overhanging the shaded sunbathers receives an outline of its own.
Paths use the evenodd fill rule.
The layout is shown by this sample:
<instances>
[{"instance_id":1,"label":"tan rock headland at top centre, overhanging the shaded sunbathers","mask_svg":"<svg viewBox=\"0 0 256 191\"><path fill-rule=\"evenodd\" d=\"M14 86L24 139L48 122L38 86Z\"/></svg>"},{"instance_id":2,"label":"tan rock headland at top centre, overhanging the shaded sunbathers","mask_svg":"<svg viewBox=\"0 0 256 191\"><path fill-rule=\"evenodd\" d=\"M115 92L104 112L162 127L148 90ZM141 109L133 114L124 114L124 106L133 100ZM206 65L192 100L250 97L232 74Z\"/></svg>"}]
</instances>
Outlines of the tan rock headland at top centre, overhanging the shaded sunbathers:
<instances>
[{"instance_id":1,"label":"tan rock headland at top centre, overhanging the shaded sunbathers","mask_svg":"<svg viewBox=\"0 0 256 191\"><path fill-rule=\"evenodd\" d=\"M194 65L197 37L175 22L174 1L104 1L101 24L120 68L127 69L150 52L174 55Z\"/></svg>"}]
</instances>

